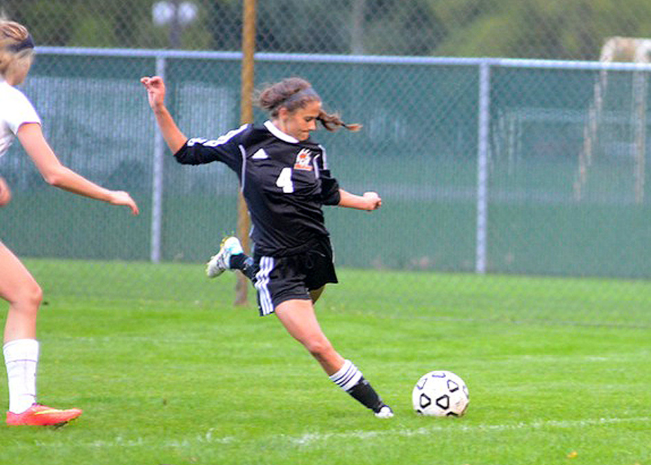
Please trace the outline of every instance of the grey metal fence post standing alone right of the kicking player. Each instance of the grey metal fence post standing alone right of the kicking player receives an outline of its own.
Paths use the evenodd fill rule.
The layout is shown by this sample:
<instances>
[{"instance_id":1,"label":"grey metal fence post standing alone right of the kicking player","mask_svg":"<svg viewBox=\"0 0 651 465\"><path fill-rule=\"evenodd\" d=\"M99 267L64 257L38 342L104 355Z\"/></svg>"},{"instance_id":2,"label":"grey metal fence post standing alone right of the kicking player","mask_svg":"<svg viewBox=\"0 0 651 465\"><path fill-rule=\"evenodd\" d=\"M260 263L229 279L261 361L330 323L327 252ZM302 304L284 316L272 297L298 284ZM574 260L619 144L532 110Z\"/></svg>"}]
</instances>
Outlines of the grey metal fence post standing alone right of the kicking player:
<instances>
[{"instance_id":1,"label":"grey metal fence post standing alone right of the kicking player","mask_svg":"<svg viewBox=\"0 0 651 465\"><path fill-rule=\"evenodd\" d=\"M479 65L479 114L477 141L477 238L475 271L486 273L486 238L488 222L488 158L491 67L487 60Z\"/></svg>"}]
</instances>

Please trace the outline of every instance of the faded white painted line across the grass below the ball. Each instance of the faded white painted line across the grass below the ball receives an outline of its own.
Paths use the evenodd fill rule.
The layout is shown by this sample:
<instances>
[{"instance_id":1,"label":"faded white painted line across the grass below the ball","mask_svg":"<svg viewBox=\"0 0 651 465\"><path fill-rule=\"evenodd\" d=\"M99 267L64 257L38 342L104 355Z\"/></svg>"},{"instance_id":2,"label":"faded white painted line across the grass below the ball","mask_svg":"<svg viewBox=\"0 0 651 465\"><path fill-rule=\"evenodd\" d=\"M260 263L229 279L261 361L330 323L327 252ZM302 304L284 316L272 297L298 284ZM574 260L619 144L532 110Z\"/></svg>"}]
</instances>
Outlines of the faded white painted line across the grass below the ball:
<instances>
[{"instance_id":1,"label":"faded white painted line across the grass below the ball","mask_svg":"<svg viewBox=\"0 0 651 465\"><path fill-rule=\"evenodd\" d=\"M391 421L391 420L378 420ZM432 418L432 421L437 421ZM504 425L463 425L463 420L459 419L441 419L438 425L421 427L417 429L383 429L381 431L355 430L341 433L304 433L295 436L287 434L278 434L265 436L261 440L271 440L274 444L285 442L296 446L308 446L317 442L338 442L342 439L360 439L382 438L383 436L411 438L415 436L430 436L433 432L454 431L456 432L486 432L486 431L517 431L517 430L535 430L544 428L561 428L561 429L580 429L591 426L609 426L622 423L649 423L651 417L638 416L632 418L588 418L585 420L546 420L536 421L533 423L508 423ZM443 426L443 423L447 425ZM94 447L97 449L110 447L177 447L185 448L196 444L235 444L237 442L247 442L256 439L243 439L235 436L214 436L214 429L209 429L204 434L198 434L194 438L185 438L179 440L167 440L159 442L153 439L145 438L123 438L116 436L110 440L95 440L86 443L75 443L76 446ZM34 443L32 443L34 444ZM53 444L47 442L36 442L40 447L52 447ZM58 444L62 445L62 444ZM54 445L56 447L56 445Z\"/></svg>"}]
</instances>

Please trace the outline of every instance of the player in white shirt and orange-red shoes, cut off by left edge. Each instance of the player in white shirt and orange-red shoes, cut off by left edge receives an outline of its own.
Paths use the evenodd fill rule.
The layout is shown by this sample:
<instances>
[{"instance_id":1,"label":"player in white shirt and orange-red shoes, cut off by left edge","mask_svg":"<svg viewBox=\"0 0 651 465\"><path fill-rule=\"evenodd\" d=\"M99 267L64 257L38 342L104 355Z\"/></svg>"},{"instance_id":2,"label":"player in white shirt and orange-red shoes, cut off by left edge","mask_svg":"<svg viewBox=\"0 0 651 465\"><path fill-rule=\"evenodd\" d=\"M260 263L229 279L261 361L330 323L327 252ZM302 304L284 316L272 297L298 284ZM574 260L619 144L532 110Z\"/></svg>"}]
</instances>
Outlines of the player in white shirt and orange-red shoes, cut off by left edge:
<instances>
[{"instance_id":1,"label":"player in white shirt and orange-red shoes, cut off by left edge","mask_svg":"<svg viewBox=\"0 0 651 465\"><path fill-rule=\"evenodd\" d=\"M43 137L40 118L23 93L21 84L34 58L34 42L19 23L0 19L0 156L14 137L48 184L113 205L125 205L133 214L138 207L127 192L107 190L63 166ZM0 205L11 194L0 178ZM0 297L8 301L3 353L9 381L8 425L60 425L82 414L82 410L57 410L36 403L36 314L42 290L27 268L0 242Z\"/></svg>"}]
</instances>

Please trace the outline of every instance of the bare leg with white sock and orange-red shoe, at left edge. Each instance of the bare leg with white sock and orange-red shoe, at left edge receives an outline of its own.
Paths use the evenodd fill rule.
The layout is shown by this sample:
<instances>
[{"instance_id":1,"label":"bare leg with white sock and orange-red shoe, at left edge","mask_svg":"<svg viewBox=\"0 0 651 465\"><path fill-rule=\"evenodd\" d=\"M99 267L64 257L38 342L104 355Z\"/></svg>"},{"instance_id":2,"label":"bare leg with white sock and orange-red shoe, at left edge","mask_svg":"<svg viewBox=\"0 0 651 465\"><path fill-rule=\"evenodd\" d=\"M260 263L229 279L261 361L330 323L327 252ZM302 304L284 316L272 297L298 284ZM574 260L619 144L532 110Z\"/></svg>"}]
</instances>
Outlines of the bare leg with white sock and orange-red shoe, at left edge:
<instances>
[{"instance_id":1,"label":"bare leg with white sock and orange-red shoe, at left edge","mask_svg":"<svg viewBox=\"0 0 651 465\"><path fill-rule=\"evenodd\" d=\"M3 355L9 382L8 425L58 425L81 410L55 410L36 404L38 341L36 316L42 291L27 268L0 242L0 297L8 301ZM37 413L38 412L38 413Z\"/></svg>"}]
</instances>

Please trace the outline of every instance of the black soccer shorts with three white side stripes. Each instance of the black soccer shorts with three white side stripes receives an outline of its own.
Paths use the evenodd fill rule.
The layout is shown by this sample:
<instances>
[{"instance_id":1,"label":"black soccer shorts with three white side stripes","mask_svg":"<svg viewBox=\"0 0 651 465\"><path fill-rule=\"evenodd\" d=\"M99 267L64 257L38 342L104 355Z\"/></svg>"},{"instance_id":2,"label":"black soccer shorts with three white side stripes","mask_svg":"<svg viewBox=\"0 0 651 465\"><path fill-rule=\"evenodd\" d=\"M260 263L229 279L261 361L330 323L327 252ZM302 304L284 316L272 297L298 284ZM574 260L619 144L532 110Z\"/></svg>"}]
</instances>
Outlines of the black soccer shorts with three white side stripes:
<instances>
[{"instance_id":1,"label":"black soccer shorts with three white side stripes","mask_svg":"<svg viewBox=\"0 0 651 465\"><path fill-rule=\"evenodd\" d=\"M328 238L315 242L306 252L286 257L255 255L254 261L260 316L273 313L284 301L310 299L310 290L338 282Z\"/></svg>"}]
</instances>

